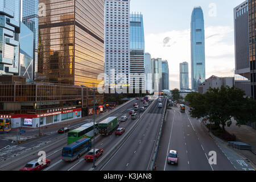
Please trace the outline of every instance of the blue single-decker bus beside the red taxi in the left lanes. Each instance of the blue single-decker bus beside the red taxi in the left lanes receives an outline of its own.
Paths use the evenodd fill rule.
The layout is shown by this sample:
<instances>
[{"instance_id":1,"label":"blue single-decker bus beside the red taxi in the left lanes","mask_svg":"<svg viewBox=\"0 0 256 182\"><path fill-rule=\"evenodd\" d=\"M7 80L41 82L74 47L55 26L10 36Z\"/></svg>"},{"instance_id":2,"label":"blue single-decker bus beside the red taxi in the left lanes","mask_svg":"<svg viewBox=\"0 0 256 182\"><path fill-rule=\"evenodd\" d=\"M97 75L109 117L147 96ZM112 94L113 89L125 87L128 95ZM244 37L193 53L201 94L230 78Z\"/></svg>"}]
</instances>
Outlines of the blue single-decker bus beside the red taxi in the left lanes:
<instances>
[{"instance_id":1,"label":"blue single-decker bus beside the red taxi in the left lanes","mask_svg":"<svg viewBox=\"0 0 256 182\"><path fill-rule=\"evenodd\" d=\"M65 162L72 162L73 160L81 158L86 152L92 148L92 140L90 138L82 138L76 142L63 147L61 156Z\"/></svg>"}]
</instances>

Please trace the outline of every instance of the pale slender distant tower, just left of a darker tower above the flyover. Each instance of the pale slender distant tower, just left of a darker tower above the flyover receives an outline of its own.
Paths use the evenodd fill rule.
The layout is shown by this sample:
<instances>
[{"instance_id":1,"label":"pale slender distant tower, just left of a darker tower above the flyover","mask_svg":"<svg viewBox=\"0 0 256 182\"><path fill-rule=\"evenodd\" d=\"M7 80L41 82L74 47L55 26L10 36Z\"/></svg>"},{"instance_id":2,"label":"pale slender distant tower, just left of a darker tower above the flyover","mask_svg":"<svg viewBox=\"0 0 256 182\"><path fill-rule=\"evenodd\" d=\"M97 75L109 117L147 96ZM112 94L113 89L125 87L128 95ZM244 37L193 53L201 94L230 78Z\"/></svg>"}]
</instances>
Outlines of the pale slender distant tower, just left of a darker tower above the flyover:
<instances>
[{"instance_id":1,"label":"pale slender distant tower, just left of a darker tower above the flyover","mask_svg":"<svg viewBox=\"0 0 256 182\"><path fill-rule=\"evenodd\" d=\"M154 92L160 93L162 89L162 59L152 59L154 67Z\"/></svg>"}]
</instances>

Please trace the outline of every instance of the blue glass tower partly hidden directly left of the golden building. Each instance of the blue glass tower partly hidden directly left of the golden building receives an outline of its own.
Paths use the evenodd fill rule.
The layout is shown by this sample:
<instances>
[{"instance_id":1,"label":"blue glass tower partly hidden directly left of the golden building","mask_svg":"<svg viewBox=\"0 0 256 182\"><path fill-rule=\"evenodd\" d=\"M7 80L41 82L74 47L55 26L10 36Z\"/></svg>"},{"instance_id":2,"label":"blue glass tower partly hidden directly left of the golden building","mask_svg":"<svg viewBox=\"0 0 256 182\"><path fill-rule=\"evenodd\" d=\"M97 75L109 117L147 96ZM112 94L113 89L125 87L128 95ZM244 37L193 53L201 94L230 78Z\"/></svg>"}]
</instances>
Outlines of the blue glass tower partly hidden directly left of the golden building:
<instances>
[{"instance_id":1,"label":"blue glass tower partly hidden directly left of the golden building","mask_svg":"<svg viewBox=\"0 0 256 182\"><path fill-rule=\"evenodd\" d=\"M33 77L38 75L38 19L39 19L39 0L22 1L22 22L34 33L34 53L33 53ZM43 8L43 7L42 7Z\"/></svg>"}]
</instances>

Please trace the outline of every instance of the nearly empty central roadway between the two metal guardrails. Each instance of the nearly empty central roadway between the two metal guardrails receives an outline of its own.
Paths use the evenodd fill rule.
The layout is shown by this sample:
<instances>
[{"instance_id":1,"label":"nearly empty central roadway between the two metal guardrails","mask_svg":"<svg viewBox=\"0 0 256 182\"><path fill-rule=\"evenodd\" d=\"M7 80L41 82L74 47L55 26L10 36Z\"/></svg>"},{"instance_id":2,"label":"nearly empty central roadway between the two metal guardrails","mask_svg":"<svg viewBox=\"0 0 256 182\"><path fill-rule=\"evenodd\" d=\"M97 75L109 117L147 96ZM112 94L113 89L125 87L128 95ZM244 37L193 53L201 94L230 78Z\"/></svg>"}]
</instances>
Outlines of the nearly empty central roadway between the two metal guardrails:
<instances>
[{"instance_id":1,"label":"nearly empty central roadway between the two metal guardrails","mask_svg":"<svg viewBox=\"0 0 256 182\"><path fill-rule=\"evenodd\" d=\"M162 103L166 103L164 99ZM155 102L122 147L113 155L102 171L146 171L164 110Z\"/></svg>"}]
</instances>

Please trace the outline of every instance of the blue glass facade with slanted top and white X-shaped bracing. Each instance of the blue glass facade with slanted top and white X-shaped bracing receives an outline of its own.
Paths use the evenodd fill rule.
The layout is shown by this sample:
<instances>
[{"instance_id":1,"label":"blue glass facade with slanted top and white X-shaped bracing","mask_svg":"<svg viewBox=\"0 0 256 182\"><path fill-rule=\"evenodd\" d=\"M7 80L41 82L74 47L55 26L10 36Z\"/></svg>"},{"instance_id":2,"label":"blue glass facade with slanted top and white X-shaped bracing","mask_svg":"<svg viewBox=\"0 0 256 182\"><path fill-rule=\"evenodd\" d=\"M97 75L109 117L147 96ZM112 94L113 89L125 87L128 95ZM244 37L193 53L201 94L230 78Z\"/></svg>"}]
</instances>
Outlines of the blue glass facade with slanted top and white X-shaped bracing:
<instances>
[{"instance_id":1,"label":"blue glass facade with slanted top and white X-shaped bracing","mask_svg":"<svg viewBox=\"0 0 256 182\"><path fill-rule=\"evenodd\" d=\"M20 22L19 47L19 76L24 76L27 82L32 82L34 80L34 33L22 22Z\"/></svg>"}]
</instances>

